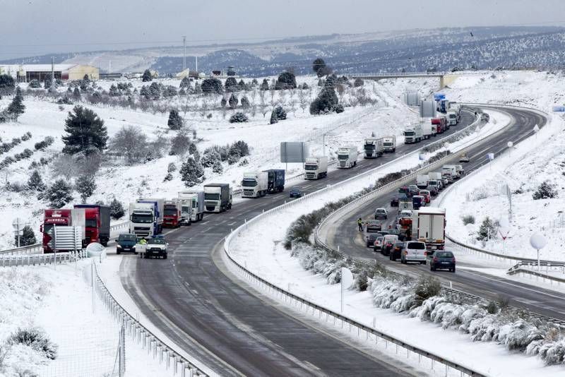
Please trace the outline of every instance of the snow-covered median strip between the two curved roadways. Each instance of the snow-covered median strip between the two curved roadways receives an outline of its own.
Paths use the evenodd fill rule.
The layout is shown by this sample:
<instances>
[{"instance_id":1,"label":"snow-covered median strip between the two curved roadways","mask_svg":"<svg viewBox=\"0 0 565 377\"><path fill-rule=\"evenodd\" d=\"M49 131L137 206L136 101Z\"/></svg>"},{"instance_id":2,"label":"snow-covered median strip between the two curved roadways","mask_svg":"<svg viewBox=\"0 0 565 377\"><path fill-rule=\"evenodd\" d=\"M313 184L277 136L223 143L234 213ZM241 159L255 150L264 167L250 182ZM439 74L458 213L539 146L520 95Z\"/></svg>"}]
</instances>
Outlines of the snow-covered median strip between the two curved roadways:
<instances>
[{"instance_id":1,"label":"snow-covered median strip between the two curved roadways","mask_svg":"<svg viewBox=\"0 0 565 377\"><path fill-rule=\"evenodd\" d=\"M493 124L496 121L497 114L497 112L491 112ZM501 121L504 118L508 121L508 118L504 115L499 118L499 121L496 121L499 127L504 126L504 122ZM499 128L494 127L492 132L496 129ZM405 166L405 162L400 160L393 162L390 166L383 167L379 172L382 176L387 172L395 172L400 167ZM322 208L329 201L336 201L355 191L359 191L360 188L372 183L375 178L376 176L357 179L349 184L343 184L328 193L302 201L299 205L291 205L264 217L261 222L251 225L239 233L237 237L234 237L230 244L230 255L238 263L245 265L248 270L251 270L259 277L263 277L279 287L285 287L285 289L299 297L338 312L340 310L340 285L335 284L335 282L339 281L338 271L339 267L344 264L343 261L333 261L331 265L324 265L323 262L317 264L312 262L314 265L311 268L314 268L316 272L316 275L312 275L310 271L305 270L309 261L292 256L291 251L284 249L283 241L285 240L287 228L290 227L297 217ZM354 227L355 225L351 226ZM306 259L308 258L306 257ZM388 297L388 294L391 293L385 292L386 289L381 291L380 289L384 285L379 284L379 282L374 283L371 287L375 296L382 295L382 297ZM400 299L398 307L403 307L403 305L410 307L409 301L400 296L398 298ZM390 299L388 297L388 300ZM416 347L428 349L429 352L434 354L441 354L446 359L481 371L486 375L526 376L532 373L535 375L543 371L545 375L547 373L547 376L559 376L560 373L563 373L563 369L559 367L545 368L544 362L536 357L523 357L513 354L499 345L488 343L474 344L468 335L465 336L454 331L442 331L435 323L422 323L422 319L429 319L427 313L417 313L414 311L412 312L412 318L407 318L406 316L399 316L398 313L391 313L390 310L375 308L374 304L381 306L382 303L376 297L371 299L370 292L348 291L346 293L346 302L344 314L355 319L355 321L369 326L373 326L374 321L376 321L376 330L392 335ZM436 303L430 301L429 304ZM388 307L390 304L382 306ZM465 308L462 311L467 309ZM484 309L482 311L484 312ZM448 321L447 317L445 316L446 321ZM434 315L434 318L441 323L444 316ZM456 319L453 324L457 321ZM465 321L467 320L465 319ZM490 318L485 321L490 321ZM483 323L486 322L473 325L474 333L472 336L478 338L482 336L484 331L482 328ZM468 323L469 326L470 323ZM505 342L507 335L511 333L510 329L503 325L500 325L497 329L496 331L499 331L499 335L492 339ZM422 337L422 331L427 333L427 336ZM477 335L479 333L481 335ZM485 338L484 340L487 339ZM472 356L470 357L470 355Z\"/></svg>"}]
</instances>

